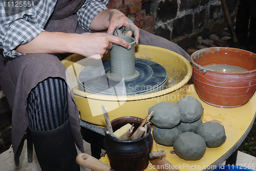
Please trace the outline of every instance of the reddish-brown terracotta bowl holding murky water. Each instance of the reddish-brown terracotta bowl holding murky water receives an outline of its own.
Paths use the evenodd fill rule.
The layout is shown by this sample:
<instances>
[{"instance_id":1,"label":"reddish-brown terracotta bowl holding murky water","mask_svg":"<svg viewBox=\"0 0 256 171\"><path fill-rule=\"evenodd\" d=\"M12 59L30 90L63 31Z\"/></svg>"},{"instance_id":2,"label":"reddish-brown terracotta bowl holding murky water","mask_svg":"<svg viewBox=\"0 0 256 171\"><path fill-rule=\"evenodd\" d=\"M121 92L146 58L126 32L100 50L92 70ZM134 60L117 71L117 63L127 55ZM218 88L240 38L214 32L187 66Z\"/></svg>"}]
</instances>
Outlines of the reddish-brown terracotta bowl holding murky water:
<instances>
[{"instance_id":1,"label":"reddish-brown terracotta bowl holding murky water","mask_svg":"<svg viewBox=\"0 0 256 171\"><path fill-rule=\"evenodd\" d=\"M221 108L244 105L256 91L256 54L235 48L206 48L191 55L193 82L201 100ZM223 72L204 68L224 64L244 72Z\"/></svg>"}]
</instances>

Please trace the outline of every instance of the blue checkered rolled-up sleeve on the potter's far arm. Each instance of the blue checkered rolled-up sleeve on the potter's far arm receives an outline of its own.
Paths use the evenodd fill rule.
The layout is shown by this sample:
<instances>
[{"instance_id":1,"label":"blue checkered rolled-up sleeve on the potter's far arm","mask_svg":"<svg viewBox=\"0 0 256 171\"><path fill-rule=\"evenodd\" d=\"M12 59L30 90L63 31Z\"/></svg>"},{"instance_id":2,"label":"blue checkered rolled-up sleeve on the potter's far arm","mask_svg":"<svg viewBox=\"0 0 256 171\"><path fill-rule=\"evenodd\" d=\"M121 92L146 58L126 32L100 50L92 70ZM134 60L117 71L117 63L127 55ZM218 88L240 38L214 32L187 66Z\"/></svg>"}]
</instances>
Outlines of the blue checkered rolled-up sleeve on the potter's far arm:
<instances>
[{"instance_id":1,"label":"blue checkered rolled-up sleeve on the potter's far arm","mask_svg":"<svg viewBox=\"0 0 256 171\"><path fill-rule=\"evenodd\" d=\"M89 26L100 11L108 9L106 5L109 0L87 0L83 6L77 11L79 25L86 31L90 32Z\"/></svg>"}]
</instances>

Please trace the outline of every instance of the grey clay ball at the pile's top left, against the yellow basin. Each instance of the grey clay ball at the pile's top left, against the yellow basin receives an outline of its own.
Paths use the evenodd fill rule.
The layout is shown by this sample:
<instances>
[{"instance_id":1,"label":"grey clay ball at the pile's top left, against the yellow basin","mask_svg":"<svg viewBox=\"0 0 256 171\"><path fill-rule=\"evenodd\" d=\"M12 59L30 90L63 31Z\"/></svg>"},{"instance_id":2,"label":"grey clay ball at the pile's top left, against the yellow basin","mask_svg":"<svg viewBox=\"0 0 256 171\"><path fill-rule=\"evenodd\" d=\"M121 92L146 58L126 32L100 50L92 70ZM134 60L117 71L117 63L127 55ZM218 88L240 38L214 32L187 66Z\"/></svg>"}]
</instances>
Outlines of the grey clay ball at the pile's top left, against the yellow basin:
<instances>
[{"instance_id":1,"label":"grey clay ball at the pile's top left, against the yellow basin","mask_svg":"<svg viewBox=\"0 0 256 171\"><path fill-rule=\"evenodd\" d=\"M153 105L148 114L154 111L151 122L157 127L171 129L180 123L180 108L173 102L160 102Z\"/></svg>"}]
</instances>

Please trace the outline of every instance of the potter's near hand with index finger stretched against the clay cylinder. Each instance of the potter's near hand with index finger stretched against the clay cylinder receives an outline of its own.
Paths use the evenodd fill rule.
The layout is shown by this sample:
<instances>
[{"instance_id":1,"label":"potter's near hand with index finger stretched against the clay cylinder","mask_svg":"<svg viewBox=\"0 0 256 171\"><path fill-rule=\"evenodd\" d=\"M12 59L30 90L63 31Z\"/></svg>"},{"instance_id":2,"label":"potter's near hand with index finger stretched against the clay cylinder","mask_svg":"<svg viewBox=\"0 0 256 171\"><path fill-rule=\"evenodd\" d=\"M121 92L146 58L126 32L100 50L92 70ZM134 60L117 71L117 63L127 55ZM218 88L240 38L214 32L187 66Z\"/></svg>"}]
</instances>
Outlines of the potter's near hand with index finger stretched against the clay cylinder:
<instances>
[{"instance_id":1,"label":"potter's near hand with index finger stretched against the clay cylinder","mask_svg":"<svg viewBox=\"0 0 256 171\"><path fill-rule=\"evenodd\" d=\"M112 49L112 43L126 49L131 49L131 45L128 42L108 33L83 33L80 34L80 36L77 44L77 53L83 56L93 56L98 59L102 58L108 49Z\"/></svg>"}]
</instances>

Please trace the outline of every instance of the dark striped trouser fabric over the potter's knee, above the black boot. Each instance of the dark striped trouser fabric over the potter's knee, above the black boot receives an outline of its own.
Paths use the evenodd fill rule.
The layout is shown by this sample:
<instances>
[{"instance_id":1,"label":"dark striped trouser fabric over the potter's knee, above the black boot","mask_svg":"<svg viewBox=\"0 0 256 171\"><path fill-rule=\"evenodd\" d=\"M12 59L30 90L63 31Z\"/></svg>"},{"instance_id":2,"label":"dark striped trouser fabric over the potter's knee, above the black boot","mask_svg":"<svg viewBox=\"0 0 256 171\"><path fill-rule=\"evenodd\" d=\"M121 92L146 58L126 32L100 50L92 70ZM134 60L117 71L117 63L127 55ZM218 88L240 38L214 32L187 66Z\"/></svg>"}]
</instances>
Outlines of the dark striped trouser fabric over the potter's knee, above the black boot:
<instances>
[{"instance_id":1,"label":"dark striped trouser fabric over the potter's knee, above the black boot","mask_svg":"<svg viewBox=\"0 0 256 171\"><path fill-rule=\"evenodd\" d=\"M39 82L28 97L29 126L36 131L56 129L68 119L67 85L58 78Z\"/></svg>"}]
</instances>

